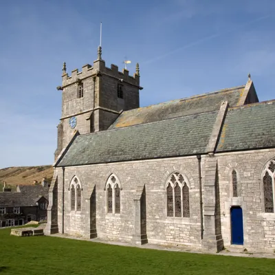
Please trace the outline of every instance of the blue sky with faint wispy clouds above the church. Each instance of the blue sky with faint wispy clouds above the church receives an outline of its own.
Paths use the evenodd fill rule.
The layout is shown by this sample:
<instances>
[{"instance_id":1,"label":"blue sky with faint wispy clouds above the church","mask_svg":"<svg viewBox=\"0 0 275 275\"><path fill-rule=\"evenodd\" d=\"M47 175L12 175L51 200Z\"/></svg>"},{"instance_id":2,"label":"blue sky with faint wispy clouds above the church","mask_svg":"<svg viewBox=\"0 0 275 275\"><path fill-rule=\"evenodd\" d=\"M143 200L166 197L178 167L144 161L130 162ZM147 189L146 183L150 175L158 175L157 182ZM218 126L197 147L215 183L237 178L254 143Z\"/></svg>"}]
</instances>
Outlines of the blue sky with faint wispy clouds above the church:
<instances>
[{"instance_id":1,"label":"blue sky with faint wispy clouds above the church","mask_svg":"<svg viewBox=\"0 0 275 275\"><path fill-rule=\"evenodd\" d=\"M0 168L52 164L67 72L140 63L140 105L243 85L274 99L274 0L13 0L0 5Z\"/></svg>"}]
</instances>

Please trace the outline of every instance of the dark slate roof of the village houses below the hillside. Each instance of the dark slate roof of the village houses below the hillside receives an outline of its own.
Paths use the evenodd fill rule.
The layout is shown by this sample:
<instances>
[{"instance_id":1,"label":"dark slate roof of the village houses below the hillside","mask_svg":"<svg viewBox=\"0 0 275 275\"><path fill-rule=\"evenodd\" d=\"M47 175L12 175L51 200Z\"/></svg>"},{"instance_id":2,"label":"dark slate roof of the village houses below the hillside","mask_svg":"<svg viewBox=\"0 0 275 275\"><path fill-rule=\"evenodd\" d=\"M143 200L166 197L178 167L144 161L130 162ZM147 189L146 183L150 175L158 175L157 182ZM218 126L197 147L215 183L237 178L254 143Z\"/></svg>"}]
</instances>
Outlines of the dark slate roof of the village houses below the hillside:
<instances>
[{"instance_id":1,"label":"dark slate roof of the village houses below the hillside","mask_svg":"<svg viewBox=\"0 0 275 275\"><path fill-rule=\"evenodd\" d=\"M0 206L36 206L36 201L45 197L49 199L49 187L41 184L32 186L19 186L21 192L0 192Z\"/></svg>"}]
</instances>

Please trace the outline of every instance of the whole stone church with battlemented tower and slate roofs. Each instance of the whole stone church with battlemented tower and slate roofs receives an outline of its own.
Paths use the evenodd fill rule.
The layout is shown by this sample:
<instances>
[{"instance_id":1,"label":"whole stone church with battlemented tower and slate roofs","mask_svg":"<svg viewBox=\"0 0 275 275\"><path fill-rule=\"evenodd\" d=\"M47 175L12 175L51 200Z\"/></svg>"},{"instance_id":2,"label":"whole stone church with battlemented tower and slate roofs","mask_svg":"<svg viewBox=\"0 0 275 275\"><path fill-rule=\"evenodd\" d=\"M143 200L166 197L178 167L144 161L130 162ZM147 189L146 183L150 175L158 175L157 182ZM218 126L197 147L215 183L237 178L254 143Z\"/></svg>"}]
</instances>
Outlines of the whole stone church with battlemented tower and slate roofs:
<instances>
[{"instance_id":1,"label":"whole stone church with battlemented tower and slate roofs","mask_svg":"<svg viewBox=\"0 0 275 275\"><path fill-rule=\"evenodd\" d=\"M275 249L275 100L239 87L139 107L140 72L68 76L45 232Z\"/></svg>"}]
</instances>

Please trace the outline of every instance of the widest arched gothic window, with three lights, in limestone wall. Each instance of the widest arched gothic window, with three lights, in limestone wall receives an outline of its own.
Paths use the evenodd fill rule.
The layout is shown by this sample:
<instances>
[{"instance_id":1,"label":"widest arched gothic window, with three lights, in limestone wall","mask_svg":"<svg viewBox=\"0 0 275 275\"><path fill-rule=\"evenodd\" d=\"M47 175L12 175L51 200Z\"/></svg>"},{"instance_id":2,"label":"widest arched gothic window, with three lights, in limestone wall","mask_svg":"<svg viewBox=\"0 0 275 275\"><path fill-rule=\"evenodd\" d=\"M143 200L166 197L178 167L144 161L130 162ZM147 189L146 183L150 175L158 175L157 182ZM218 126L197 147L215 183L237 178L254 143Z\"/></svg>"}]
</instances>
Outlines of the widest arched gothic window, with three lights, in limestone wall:
<instances>
[{"instance_id":1,"label":"widest arched gothic window, with three lights, in limestone wall","mask_svg":"<svg viewBox=\"0 0 275 275\"><path fill-rule=\"evenodd\" d=\"M190 217L189 187L187 180L179 172L170 175L167 192L167 216Z\"/></svg>"}]
</instances>

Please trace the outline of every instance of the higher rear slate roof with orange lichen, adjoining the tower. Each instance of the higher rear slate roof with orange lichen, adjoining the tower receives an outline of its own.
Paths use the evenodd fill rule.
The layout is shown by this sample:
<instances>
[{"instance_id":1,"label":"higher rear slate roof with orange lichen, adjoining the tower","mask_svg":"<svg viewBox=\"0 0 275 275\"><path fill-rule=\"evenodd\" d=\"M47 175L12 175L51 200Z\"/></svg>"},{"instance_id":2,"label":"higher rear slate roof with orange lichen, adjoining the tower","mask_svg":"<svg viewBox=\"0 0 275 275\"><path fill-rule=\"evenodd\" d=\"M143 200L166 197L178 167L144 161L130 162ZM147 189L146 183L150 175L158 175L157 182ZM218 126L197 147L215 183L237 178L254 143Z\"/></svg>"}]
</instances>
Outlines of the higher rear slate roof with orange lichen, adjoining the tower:
<instances>
[{"instance_id":1,"label":"higher rear slate roof with orange lichen, adjoining the tower","mask_svg":"<svg viewBox=\"0 0 275 275\"><path fill-rule=\"evenodd\" d=\"M244 89L245 86L222 89L199 96L124 111L109 129L216 111L219 110L221 102L224 100L228 101L230 107L238 106Z\"/></svg>"}]
</instances>

